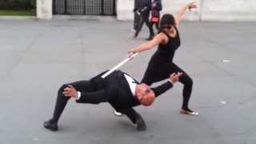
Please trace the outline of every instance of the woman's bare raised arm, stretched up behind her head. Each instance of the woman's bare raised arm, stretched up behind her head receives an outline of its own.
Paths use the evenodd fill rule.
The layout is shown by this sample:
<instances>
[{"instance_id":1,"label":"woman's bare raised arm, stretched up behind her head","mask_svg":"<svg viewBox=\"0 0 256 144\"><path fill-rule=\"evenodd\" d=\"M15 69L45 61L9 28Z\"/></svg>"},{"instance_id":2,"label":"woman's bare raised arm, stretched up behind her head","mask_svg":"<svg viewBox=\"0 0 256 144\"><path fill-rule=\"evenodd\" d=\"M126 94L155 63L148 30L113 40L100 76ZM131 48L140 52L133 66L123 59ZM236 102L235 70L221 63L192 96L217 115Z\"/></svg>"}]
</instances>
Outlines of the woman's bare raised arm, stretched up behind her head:
<instances>
[{"instance_id":1,"label":"woman's bare raised arm, stretched up behind her head","mask_svg":"<svg viewBox=\"0 0 256 144\"><path fill-rule=\"evenodd\" d=\"M182 16L185 14L186 10L196 9L198 6L195 4L195 2L190 2L186 4L185 6L182 6L180 10L178 11L178 14L175 14L175 22L176 26L179 25L180 20L182 19Z\"/></svg>"}]
</instances>

